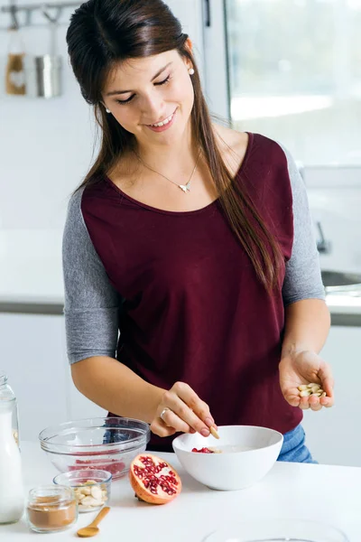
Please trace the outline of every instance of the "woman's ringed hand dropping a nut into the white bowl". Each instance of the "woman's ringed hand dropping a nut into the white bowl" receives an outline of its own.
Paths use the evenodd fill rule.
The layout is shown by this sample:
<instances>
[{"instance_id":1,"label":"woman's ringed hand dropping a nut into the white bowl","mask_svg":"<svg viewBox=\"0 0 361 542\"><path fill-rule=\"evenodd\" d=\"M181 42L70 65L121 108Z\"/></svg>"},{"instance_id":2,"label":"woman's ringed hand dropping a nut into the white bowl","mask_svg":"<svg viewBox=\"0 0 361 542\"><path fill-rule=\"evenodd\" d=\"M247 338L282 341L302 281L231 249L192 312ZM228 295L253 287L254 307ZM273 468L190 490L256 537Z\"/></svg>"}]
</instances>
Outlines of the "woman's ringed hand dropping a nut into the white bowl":
<instances>
[{"instance_id":1,"label":"woman's ringed hand dropping a nut into the white bowl","mask_svg":"<svg viewBox=\"0 0 361 542\"><path fill-rule=\"evenodd\" d=\"M207 403L188 384L176 382L163 393L151 423L151 431L159 436L170 436L177 432L198 432L208 436L211 425L217 429Z\"/></svg>"}]
</instances>

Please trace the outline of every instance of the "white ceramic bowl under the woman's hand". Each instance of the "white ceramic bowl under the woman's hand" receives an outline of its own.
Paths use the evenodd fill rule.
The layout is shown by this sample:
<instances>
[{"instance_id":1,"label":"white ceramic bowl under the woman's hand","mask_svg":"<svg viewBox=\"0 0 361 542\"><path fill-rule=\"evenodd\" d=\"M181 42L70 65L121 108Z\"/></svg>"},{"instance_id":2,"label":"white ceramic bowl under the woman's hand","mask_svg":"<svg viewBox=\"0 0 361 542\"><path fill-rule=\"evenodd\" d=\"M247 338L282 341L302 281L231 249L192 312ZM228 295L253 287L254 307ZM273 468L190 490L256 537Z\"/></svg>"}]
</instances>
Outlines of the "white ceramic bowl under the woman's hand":
<instances>
[{"instance_id":1,"label":"white ceramic bowl under the woman's hand","mask_svg":"<svg viewBox=\"0 0 361 542\"><path fill-rule=\"evenodd\" d=\"M177 436L173 450L182 467L212 490L243 490L264 478L281 451L283 435L254 425L218 427L219 440L195 433ZM195 453L192 448L212 447L222 453ZM228 451L228 450L232 451ZM241 451L233 451L240 449Z\"/></svg>"}]
</instances>

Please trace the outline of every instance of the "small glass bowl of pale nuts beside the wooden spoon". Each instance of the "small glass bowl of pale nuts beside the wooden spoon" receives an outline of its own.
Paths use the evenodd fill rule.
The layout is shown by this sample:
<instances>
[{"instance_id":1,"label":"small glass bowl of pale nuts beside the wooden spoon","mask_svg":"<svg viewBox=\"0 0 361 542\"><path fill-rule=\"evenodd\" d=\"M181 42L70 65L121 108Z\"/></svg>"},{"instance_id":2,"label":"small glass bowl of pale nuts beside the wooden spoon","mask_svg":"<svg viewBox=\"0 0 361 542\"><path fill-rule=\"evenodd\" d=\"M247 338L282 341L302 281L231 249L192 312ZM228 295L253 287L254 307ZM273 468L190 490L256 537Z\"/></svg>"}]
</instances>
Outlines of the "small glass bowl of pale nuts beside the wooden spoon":
<instances>
[{"instance_id":1,"label":"small glass bowl of pale nuts beside the wooden spoon","mask_svg":"<svg viewBox=\"0 0 361 542\"><path fill-rule=\"evenodd\" d=\"M103 508L110 500L112 484L110 472L81 469L58 474L53 482L68 486L74 491L79 512L94 512Z\"/></svg>"}]
</instances>

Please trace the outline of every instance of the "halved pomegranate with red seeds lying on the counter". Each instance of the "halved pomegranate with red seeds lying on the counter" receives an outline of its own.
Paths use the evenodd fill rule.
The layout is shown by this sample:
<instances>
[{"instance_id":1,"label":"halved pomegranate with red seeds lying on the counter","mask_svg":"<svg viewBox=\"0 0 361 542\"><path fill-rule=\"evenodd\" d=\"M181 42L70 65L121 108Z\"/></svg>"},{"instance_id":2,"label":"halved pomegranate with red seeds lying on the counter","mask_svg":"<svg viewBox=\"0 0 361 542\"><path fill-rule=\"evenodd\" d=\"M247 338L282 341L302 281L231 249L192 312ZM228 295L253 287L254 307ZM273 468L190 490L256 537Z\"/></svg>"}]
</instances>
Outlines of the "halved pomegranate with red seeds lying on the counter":
<instances>
[{"instance_id":1,"label":"halved pomegranate with red seeds lying on the counter","mask_svg":"<svg viewBox=\"0 0 361 542\"><path fill-rule=\"evenodd\" d=\"M180 475L172 466L152 453L140 453L130 465L129 479L140 500L165 504L181 491Z\"/></svg>"}]
</instances>

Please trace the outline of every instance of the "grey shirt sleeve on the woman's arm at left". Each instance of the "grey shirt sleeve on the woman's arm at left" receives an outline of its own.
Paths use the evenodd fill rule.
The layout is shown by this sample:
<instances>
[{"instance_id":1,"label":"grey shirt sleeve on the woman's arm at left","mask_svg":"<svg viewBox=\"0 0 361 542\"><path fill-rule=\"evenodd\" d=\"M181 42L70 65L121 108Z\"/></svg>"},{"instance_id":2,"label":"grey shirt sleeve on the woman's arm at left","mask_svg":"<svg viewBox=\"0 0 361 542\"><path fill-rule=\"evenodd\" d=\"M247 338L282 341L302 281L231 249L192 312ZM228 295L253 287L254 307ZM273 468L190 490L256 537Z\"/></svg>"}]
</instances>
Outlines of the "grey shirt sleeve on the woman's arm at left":
<instances>
[{"instance_id":1,"label":"grey shirt sleeve on the woman's arm at left","mask_svg":"<svg viewBox=\"0 0 361 542\"><path fill-rule=\"evenodd\" d=\"M84 190L84 189L83 189ZM81 212L83 190L69 201L62 242L65 327L70 363L116 356L120 296L110 284Z\"/></svg>"}]
</instances>

